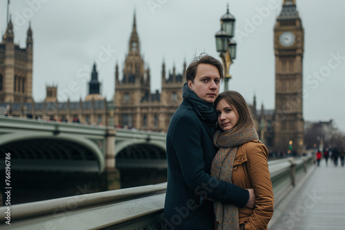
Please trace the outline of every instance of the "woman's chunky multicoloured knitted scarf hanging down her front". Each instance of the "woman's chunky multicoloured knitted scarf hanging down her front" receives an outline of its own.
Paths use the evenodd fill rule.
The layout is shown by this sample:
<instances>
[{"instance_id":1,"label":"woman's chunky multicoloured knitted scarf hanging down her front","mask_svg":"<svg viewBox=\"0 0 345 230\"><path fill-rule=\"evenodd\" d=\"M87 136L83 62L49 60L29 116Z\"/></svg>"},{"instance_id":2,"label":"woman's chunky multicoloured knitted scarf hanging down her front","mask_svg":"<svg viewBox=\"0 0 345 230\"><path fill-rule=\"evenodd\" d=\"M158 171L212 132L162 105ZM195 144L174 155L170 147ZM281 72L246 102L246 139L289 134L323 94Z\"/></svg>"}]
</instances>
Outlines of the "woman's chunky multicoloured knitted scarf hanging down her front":
<instances>
[{"instance_id":1,"label":"woman's chunky multicoloured knitted scarf hanging down her front","mask_svg":"<svg viewBox=\"0 0 345 230\"><path fill-rule=\"evenodd\" d=\"M237 132L231 130L222 132L217 130L213 138L213 144L219 148L211 166L211 176L219 180L232 183L231 176L237 149L239 145L250 140L258 140L254 127L242 127ZM217 229L239 229L238 207L233 204L223 204L214 201L215 219Z\"/></svg>"}]
</instances>

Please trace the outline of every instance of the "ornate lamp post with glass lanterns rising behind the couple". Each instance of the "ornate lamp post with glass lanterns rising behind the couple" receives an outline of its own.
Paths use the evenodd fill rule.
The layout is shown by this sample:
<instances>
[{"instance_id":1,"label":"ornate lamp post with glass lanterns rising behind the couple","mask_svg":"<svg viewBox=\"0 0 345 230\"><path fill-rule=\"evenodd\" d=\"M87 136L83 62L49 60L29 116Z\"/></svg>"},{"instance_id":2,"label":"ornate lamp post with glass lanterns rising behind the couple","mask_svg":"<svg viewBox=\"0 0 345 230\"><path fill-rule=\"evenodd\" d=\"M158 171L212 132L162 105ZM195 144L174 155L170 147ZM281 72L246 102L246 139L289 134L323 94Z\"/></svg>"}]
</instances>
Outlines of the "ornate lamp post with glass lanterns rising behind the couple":
<instances>
[{"instance_id":1,"label":"ornate lamp post with glass lanterns rising behind the couple","mask_svg":"<svg viewBox=\"0 0 345 230\"><path fill-rule=\"evenodd\" d=\"M236 58L236 42L233 40L235 34L235 17L229 12L229 5L227 6L226 14L221 17L221 30L215 35L217 52L224 65L224 90L228 90L228 81L231 79L229 69L231 63Z\"/></svg>"}]
</instances>

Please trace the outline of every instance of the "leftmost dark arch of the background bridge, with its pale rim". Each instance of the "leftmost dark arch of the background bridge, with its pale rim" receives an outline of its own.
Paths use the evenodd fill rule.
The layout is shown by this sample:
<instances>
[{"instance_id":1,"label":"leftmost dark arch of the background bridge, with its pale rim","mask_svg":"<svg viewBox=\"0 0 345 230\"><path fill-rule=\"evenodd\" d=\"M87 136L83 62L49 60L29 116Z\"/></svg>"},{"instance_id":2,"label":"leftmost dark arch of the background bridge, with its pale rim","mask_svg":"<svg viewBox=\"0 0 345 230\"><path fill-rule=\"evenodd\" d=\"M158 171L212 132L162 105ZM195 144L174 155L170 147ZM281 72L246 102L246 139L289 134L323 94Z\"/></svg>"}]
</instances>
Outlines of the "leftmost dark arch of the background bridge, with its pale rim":
<instances>
[{"instance_id":1,"label":"leftmost dark arch of the background bridge, with its pale rim","mask_svg":"<svg viewBox=\"0 0 345 230\"><path fill-rule=\"evenodd\" d=\"M105 168L101 149L86 138L72 135L13 133L1 136L1 154L11 153L13 169L45 171L89 171Z\"/></svg>"}]
</instances>

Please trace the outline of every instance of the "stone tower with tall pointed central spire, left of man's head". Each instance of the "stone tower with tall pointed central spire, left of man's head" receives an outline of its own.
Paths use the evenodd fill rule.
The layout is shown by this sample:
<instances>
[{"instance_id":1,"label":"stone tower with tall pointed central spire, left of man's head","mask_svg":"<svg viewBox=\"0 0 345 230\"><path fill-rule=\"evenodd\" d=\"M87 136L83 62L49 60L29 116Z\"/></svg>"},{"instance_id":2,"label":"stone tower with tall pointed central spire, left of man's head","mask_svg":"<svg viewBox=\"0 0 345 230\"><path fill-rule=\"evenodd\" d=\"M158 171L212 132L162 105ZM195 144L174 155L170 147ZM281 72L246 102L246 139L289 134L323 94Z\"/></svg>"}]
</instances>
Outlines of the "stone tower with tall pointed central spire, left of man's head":
<instances>
[{"instance_id":1,"label":"stone tower with tall pointed central spire, left of man's head","mask_svg":"<svg viewBox=\"0 0 345 230\"><path fill-rule=\"evenodd\" d=\"M115 124L141 128L146 114L141 106L150 101L150 70L144 67L144 59L141 58L134 14L132 34L121 80L119 79L119 67L118 65L115 67ZM147 116L146 119L148 119Z\"/></svg>"}]
</instances>

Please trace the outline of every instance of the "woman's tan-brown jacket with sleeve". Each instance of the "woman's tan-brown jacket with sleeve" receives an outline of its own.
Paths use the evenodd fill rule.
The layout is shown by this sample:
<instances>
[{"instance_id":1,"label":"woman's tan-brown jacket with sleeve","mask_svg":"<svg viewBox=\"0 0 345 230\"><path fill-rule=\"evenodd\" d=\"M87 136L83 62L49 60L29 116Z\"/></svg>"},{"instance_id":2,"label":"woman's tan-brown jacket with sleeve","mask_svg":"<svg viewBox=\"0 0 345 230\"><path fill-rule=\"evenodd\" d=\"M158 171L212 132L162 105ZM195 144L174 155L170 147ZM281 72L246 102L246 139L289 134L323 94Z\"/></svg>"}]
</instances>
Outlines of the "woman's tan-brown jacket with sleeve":
<instances>
[{"instance_id":1,"label":"woman's tan-brown jacket with sleeve","mask_svg":"<svg viewBox=\"0 0 345 230\"><path fill-rule=\"evenodd\" d=\"M252 140L237 149L233 166L233 184L254 189L255 208L239 207L239 224L244 229L267 229L273 216L273 188L268 171L268 151L259 140Z\"/></svg>"}]
</instances>

